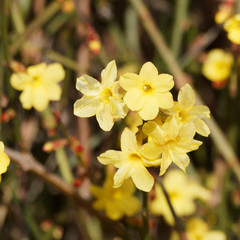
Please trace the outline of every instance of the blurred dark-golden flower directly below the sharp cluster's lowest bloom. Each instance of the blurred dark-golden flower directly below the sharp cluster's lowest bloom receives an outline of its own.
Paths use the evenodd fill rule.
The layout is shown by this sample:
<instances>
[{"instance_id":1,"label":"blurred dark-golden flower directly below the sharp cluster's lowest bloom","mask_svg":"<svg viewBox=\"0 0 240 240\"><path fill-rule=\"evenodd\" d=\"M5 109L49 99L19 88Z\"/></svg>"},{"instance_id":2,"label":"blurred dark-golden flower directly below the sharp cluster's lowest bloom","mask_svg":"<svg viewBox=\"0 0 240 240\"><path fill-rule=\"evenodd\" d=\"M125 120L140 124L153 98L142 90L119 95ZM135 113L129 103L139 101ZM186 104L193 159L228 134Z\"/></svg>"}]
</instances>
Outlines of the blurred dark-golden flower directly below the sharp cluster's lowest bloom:
<instances>
[{"instance_id":1,"label":"blurred dark-golden flower directly below the sharp cluster's lowest bloom","mask_svg":"<svg viewBox=\"0 0 240 240\"><path fill-rule=\"evenodd\" d=\"M124 215L134 216L140 209L140 203L134 192L136 188L131 179L123 183L120 188L113 188L113 176L108 174L103 187L92 185L90 191L96 197L93 207L105 210L112 220L119 220Z\"/></svg>"}]
</instances>

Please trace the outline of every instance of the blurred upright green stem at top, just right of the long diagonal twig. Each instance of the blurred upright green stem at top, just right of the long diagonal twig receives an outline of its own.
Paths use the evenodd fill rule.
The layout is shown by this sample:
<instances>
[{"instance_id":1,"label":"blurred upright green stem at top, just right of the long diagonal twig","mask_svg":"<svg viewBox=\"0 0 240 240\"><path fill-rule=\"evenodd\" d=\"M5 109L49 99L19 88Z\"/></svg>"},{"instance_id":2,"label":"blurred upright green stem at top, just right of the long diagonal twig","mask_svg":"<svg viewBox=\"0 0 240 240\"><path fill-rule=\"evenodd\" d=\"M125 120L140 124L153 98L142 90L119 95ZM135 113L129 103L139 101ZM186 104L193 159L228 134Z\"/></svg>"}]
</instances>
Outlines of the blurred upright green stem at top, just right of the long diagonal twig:
<instances>
[{"instance_id":1,"label":"blurred upright green stem at top, just right of the long diagonal twig","mask_svg":"<svg viewBox=\"0 0 240 240\"><path fill-rule=\"evenodd\" d=\"M189 0L176 0L176 14L175 22L173 26L173 35L171 42L172 53L175 57L179 56L181 49L183 32L184 32L184 22L187 19L187 9L189 6Z\"/></svg>"}]
</instances>

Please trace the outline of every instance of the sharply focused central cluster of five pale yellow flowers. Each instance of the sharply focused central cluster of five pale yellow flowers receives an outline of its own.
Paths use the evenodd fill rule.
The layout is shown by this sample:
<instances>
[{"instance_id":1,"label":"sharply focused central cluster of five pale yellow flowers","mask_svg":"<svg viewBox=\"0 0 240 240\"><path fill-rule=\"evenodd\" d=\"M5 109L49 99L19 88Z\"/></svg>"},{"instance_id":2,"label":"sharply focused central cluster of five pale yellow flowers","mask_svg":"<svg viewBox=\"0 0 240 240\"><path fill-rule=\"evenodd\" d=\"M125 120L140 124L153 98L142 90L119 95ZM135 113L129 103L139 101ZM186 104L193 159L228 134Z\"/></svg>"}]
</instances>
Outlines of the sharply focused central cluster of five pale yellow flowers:
<instances>
[{"instance_id":1,"label":"sharply focused central cluster of five pale yellow flowers","mask_svg":"<svg viewBox=\"0 0 240 240\"><path fill-rule=\"evenodd\" d=\"M108 150L98 157L102 164L112 164L118 169L114 187L119 188L132 178L138 189L149 192L154 177L148 167L160 167L163 175L173 162L185 171L190 161L187 153L197 150L202 143L194 139L195 133L203 136L210 133L203 121L210 117L210 111L207 106L195 106L191 86L185 85L178 101L174 101L170 93L173 77L158 74L151 62L145 63L139 74L125 73L116 81L117 68L112 61L102 71L101 78L102 83L88 75L77 79L77 89L84 95L75 102L74 114L96 115L105 131L117 119L125 118L128 111L138 115L137 123L129 126L134 132L129 128L122 132L121 151Z\"/></svg>"}]
</instances>

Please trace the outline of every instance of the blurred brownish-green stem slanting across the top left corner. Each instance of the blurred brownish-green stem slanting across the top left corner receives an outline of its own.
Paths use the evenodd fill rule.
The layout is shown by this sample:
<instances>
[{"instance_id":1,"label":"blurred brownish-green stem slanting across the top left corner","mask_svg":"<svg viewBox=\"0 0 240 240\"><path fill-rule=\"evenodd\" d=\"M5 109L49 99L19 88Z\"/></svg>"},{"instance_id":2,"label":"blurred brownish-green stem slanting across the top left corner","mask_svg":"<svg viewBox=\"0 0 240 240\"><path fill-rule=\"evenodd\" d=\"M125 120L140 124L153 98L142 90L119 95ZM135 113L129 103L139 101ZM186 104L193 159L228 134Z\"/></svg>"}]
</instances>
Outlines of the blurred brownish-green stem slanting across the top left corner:
<instances>
[{"instance_id":1,"label":"blurred brownish-green stem slanting across the top left corner","mask_svg":"<svg viewBox=\"0 0 240 240\"><path fill-rule=\"evenodd\" d=\"M44 25L50 18L52 18L60 9L60 3L54 1L44 9L35 20L26 28L25 32L20 35L16 41L10 47L10 53L15 55L19 49L23 46L24 42L31 36L33 32L38 30Z\"/></svg>"}]
</instances>

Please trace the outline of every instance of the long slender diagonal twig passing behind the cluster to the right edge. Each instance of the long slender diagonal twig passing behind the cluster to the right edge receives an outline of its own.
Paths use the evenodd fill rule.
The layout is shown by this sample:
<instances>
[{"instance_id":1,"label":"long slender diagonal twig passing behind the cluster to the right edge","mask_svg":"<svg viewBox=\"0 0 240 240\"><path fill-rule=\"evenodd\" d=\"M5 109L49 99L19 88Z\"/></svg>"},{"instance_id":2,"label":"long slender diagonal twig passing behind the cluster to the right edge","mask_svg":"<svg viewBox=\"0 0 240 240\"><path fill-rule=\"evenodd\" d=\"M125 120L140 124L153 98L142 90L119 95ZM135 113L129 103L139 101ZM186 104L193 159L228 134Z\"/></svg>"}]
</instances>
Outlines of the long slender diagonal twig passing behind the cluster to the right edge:
<instances>
[{"instance_id":1,"label":"long slender diagonal twig passing behind the cluster to the right edge","mask_svg":"<svg viewBox=\"0 0 240 240\"><path fill-rule=\"evenodd\" d=\"M138 13L141 22L149 34L152 42L156 46L157 51L162 56L164 61L166 62L170 72L174 75L176 80L176 87L180 89L186 83L191 83L192 79L186 75L176 59L173 57L170 49L168 48L165 40L163 39L162 33L157 28L153 18L146 8L142 0L129 0L136 12ZM202 99L198 96L196 92L196 103L203 104ZM206 120L210 130L211 137L215 142L218 151L223 155L225 161L228 163L228 166L232 169L238 181L240 182L240 164L238 161L238 157L234 152L232 146L229 144L229 141L226 139L224 133L219 128L218 124L212 117L211 119Z\"/></svg>"}]
</instances>

